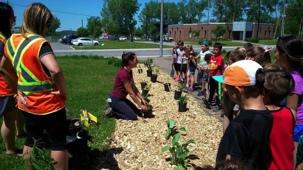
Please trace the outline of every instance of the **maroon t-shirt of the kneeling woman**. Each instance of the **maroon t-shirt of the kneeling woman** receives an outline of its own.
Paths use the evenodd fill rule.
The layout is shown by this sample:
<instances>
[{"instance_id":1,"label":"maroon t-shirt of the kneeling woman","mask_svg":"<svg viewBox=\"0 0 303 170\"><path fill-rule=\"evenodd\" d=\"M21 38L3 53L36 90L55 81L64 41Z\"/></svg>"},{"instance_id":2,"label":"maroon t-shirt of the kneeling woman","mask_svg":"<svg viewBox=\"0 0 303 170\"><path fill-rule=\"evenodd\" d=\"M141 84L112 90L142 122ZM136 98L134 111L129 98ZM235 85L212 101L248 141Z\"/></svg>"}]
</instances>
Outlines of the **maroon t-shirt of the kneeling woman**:
<instances>
[{"instance_id":1,"label":"maroon t-shirt of the kneeling woman","mask_svg":"<svg viewBox=\"0 0 303 170\"><path fill-rule=\"evenodd\" d=\"M123 81L129 81L132 86L132 77L132 70L128 73L125 68L122 68L115 77L114 90L112 91L111 95L113 97L118 97L119 99L126 99L128 92L123 85Z\"/></svg>"}]
</instances>

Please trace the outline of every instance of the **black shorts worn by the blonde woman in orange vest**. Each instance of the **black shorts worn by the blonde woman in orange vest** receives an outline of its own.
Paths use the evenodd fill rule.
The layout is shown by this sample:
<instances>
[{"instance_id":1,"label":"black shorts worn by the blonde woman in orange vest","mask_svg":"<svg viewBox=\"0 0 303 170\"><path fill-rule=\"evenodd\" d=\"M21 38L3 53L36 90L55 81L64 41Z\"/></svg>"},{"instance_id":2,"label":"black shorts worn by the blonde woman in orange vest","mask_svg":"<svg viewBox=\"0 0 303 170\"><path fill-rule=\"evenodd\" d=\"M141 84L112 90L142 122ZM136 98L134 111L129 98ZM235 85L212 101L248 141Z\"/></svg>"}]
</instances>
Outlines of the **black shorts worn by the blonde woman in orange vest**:
<instances>
[{"instance_id":1,"label":"black shorts worn by the blonde woman in orange vest","mask_svg":"<svg viewBox=\"0 0 303 170\"><path fill-rule=\"evenodd\" d=\"M35 115L22 110L26 130L25 146L32 147L36 140L42 139L44 129L52 145L53 151L66 149L66 113L65 109L46 115Z\"/></svg>"}]
</instances>

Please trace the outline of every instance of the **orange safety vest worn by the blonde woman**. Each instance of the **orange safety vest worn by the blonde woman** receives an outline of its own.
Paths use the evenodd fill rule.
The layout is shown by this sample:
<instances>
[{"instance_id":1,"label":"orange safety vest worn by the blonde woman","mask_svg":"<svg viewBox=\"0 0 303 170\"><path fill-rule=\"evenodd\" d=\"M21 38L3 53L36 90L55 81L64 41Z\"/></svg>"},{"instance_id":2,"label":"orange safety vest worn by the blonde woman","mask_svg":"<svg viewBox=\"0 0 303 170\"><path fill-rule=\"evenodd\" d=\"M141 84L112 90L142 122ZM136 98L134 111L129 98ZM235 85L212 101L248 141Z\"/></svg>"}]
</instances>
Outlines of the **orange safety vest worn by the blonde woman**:
<instances>
[{"instance_id":1,"label":"orange safety vest worn by the blonde woman","mask_svg":"<svg viewBox=\"0 0 303 170\"><path fill-rule=\"evenodd\" d=\"M42 44L49 42L34 34L27 37L12 34L4 48L18 76L18 108L39 115L53 113L65 103L60 95L49 94L58 88L52 77L45 74L39 60Z\"/></svg>"}]
</instances>

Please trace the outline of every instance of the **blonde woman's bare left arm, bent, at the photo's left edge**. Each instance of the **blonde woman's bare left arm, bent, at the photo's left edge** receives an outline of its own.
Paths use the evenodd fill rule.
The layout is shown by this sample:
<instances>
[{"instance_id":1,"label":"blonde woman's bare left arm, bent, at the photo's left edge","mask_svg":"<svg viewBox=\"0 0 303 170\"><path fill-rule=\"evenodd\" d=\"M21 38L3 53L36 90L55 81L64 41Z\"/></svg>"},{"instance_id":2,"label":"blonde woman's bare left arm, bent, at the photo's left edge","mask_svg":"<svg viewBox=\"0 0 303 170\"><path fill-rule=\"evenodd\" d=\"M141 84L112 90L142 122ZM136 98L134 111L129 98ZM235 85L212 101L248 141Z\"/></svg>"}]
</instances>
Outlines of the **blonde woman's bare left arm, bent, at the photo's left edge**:
<instances>
[{"instance_id":1,"label":"blonde woman's bare left arm, bent, at the photo's left edge","mask_svg":"<svg viewBox=\"0 0 303 170\"><path fill-rule=\"evenodd\" d=\"M2 58L2 59L1 59ZM12 63L5 57L1 57L0 61L0 75L4 79L8 87L12 89L14 93L18 92L18 76L12 65Z\"/></svg>"}]
</instances>

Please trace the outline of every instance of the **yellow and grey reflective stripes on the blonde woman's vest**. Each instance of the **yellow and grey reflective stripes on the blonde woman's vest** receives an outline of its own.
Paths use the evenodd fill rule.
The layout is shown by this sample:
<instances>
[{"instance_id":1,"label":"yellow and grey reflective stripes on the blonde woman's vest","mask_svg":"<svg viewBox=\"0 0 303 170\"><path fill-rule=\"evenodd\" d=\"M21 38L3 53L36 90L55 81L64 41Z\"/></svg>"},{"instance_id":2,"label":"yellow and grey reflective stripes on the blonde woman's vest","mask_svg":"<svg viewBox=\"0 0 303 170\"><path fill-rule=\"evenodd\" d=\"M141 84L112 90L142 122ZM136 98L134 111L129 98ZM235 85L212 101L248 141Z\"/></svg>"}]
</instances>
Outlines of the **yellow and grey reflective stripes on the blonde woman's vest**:
<instances>
[{"instance_id":1,"label":"yellow and grey reflective stripes on the blonde woman's vest","mask_svg":"<svg viewBox=\"0 0 303 170\"><path fill-rule=\"evenodd\" d=\"M22 57L24 56L25 52L28 50L29 47L31 47L32 44L39 40L44 40L44 38L29 34L28 38L23 38L15 49L12 38L9 38L9 41L7 42L7 52L12 60L12 65L17 74L21 73L19 75L19 78L22 81L18 81L18 91L22 91L22 93L24 93L25 95L52 91L56 88L54 81L39 80L22 63ZM47 41L45 40L45 42Z\"/></svg>"}]
</instances>

